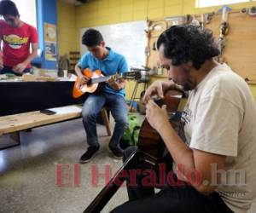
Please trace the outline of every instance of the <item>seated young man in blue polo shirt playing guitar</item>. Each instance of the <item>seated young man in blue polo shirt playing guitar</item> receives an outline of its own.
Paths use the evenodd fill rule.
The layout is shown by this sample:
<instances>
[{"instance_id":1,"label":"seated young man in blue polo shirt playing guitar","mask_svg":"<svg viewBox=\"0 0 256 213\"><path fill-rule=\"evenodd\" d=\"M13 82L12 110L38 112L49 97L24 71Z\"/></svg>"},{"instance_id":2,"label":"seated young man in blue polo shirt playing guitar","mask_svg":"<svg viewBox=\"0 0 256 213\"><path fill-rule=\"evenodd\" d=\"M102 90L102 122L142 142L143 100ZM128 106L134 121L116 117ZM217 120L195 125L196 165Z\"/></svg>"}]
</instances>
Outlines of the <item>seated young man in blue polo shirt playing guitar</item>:
<instances>
[{"instance_id":1,"label":"seated young man in blue polo shirt playing guitar","mask_svg":"<svg viewBox=\"0 0 256 213\"><path fill-rule=\"evenodd\" d=\"M89 51L82 56L75 66L78 76L83 76L82 71L85 68L89 68L91 71L101 70L107 76L128 71L125 57L106 47L100 32L95 29L87 30L82 37L82 43ZM81 83L87 83L89 79L83 76ZM115 120L113 135L108 145L109 149L115 158L123 157L123 150L119 147L119 141L128 125L125 105L125 79L114 80L111 78L107 83L102 84L99 91L89 95L84 101L82 116L89 147L80 158L80 163L89 162L100 148L96 133L96 115L105 106L108 107Z\"/></svg>"}]
</instances>

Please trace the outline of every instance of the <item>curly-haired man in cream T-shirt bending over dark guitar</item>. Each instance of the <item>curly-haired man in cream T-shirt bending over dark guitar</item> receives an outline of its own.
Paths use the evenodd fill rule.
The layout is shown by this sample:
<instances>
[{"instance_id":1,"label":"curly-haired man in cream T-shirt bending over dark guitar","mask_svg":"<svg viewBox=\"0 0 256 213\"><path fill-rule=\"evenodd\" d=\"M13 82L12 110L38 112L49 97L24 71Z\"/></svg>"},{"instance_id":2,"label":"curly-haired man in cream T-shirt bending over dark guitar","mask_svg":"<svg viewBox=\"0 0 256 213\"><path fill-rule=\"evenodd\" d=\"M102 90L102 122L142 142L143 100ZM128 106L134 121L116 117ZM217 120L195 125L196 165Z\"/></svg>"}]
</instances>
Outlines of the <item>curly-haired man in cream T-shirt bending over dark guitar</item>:
<instances>
[{"instance_id":1,"label":"curly-haired man in cream T-shirt bending over dark guitar","mask_svg":"<svg viewBox=\"0 0 256 213\"><path fill-rule=\"evenodd\" d=\"M112 213L246 213L256 196L256 107L247 83L213 59L219 51L212 32L198 26L172 26L157 48L169 81L154 82L146 91L146 118L166 144L165 164L172 168L167 172L173 171L177 184L166 181L154 193L141 171L137 184L127 181L130 200ZM183 134L173 130L166 107L152 101L169 89L189 93ZM126 149L124 158L133 150Z\"/></svg>"}]
</instances>

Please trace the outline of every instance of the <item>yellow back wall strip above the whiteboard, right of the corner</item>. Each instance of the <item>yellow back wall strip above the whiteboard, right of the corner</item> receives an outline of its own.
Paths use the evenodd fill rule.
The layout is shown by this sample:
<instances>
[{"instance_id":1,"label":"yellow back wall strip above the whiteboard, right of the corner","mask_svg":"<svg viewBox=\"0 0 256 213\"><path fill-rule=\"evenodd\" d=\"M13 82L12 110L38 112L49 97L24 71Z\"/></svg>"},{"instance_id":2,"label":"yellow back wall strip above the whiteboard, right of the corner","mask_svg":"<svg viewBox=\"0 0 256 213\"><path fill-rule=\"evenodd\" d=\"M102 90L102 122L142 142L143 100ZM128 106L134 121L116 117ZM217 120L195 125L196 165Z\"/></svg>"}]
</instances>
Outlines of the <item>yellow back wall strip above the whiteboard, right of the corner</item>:
<instances>
[{"instance_id":1,"label":"yellow back wall strip above the whiteboard, right of the corner","mask_svg":"<svg viewBox=\"0 0 256 213\"><path fill-rule=\"evenodd\" d=\"M232 4L232 9L250 7L256 3ZM90 0L77 7L78 27L102 26L132 20L163 18L180 14L201 14L220 7L195 9L195 0Z\"/></svg>"}]
</instances>

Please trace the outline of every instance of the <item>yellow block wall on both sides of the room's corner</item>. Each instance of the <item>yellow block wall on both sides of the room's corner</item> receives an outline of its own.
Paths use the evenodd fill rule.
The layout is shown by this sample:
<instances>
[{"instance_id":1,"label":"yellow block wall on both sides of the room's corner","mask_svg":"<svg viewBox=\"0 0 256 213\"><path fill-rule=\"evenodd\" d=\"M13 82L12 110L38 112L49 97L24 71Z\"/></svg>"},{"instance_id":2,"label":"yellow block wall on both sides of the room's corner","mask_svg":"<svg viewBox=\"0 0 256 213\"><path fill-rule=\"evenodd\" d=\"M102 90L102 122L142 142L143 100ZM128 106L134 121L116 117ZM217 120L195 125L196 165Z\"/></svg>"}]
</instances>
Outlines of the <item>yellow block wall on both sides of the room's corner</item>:
<instances>
[{"instance_id":1,"label":"yellow block wall on both sides of the room's corner","mask_svg":"<svg viewBox=\"0 0 256 213\"><path fill-rule=\"evenodd\" d=\"M236 3L232 9L251 7L256 3ZM201 14L217 11L221 6L195 9L195 0L90 0L79 7L60 3L58 0L59 53L79 50L80 28L114 23L164 18L180 14ZM76 37L76 39L74 39ZM143 54L143 53L142 53ZM127 98L134 83L127 85ZM251 86L256 100L256 86Z\"/></svg>"}]
</instances>

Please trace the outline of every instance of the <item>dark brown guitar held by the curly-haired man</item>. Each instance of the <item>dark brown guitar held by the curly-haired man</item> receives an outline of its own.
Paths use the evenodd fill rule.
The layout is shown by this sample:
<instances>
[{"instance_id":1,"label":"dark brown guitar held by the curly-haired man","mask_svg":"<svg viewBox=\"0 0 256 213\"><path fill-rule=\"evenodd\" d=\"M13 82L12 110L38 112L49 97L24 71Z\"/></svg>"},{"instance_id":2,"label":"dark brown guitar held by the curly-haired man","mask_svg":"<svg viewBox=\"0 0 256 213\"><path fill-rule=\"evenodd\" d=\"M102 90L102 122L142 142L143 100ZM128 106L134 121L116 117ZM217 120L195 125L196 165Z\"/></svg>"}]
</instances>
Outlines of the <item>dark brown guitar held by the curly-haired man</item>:
<instances>
[{"instance_id":1,"label":"dark brown guitar held by the curly-haired man","mask_svg":"<svg viewBox=\"0 0 256 213\"><path fill-rule=\"evenodd\" d=\"M166 110L170 117L170 122L174 130L179 130L179 119L175 116L180 100L183 98L183 93L177 90L170 90L166 93L164 99L156 101L158 105L166 105ZM115 173L108 184L103 187L96 198L84 210L84 213L99 213L104 208L108 201L117 192L119 187L125 181L123 176L124 171L134 169L139 164L148 164L148 168L158 170L158 165L166 156L166 147L164 141L156 130L148 123L147 118L144 119L140 134L137 149L131 153L131 156L125 160L125 163ZM116 184L118 183L118 184Z\"/></svg>"}]
</instances>

